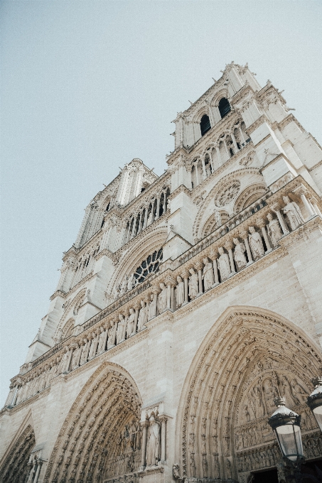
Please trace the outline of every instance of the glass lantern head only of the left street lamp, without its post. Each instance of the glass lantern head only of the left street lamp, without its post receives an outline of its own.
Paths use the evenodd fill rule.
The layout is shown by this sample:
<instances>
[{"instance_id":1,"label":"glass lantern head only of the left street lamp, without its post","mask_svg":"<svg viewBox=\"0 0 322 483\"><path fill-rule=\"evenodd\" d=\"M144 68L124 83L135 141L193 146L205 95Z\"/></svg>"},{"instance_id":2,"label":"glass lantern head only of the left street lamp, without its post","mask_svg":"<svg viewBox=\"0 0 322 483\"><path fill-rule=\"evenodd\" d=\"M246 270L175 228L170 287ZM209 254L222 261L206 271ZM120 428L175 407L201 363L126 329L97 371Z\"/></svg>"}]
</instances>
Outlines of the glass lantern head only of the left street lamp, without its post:
<instances>
[{"instance_id":1,"label":"glass lantern head only of the left street lamp, without its post","mask_svg":"<svg viewBox=\"0 0 322 483\"><path fill-rule=\"evenodd\" d=\"M283 457L291 462L304 459L301 438L301 416L285 406L285 398L274 398L277 410L269 418Z\"/></svg>"}]
</instances>

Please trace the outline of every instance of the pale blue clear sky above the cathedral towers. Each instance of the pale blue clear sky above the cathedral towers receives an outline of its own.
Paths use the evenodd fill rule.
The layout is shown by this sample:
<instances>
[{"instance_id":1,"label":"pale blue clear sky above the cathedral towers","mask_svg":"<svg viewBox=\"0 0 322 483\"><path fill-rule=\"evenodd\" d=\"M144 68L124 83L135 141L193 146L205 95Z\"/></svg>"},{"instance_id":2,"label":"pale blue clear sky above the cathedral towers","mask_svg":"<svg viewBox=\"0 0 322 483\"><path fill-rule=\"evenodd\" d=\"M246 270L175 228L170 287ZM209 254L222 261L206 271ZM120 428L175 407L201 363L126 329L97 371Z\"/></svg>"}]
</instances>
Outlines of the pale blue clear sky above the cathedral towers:
<instances>
[{"instance_id":1,"label":"pale blue clear sky above the cathedral towers","mask_svg":"<svg viewBox=\"0 0 322 483\"><path fill-rule=\"evenodd\" d=\"M47 313L84 208L171 121L249 63L322 142L321 1L2 1L1 399Z\"/></svg>"}]
</instances>

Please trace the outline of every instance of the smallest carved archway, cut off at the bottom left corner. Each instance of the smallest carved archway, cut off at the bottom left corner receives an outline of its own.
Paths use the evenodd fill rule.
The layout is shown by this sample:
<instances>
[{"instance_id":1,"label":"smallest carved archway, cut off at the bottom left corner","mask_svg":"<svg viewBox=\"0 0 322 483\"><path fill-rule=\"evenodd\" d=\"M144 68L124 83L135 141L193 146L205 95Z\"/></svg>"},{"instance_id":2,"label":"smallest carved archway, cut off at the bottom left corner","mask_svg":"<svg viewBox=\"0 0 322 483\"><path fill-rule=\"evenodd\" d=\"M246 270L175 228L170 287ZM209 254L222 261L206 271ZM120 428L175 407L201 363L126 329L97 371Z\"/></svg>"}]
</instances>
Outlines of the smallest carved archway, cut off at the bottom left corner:
<instances>
[{"instance_id":1,"label":"smallest carved archway, cut off at the bottom left corner","mask_svg":"<svg viewBox=\"0 0 322 483\"><path fill-rule=\"evenodd\" d=\"M9 450L3 464L0 467L1 483L21 483L28 476L28 460L36 443L35 433L31 425L28 425Z\"/></svg>"}]
</instances>

